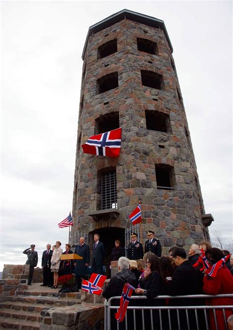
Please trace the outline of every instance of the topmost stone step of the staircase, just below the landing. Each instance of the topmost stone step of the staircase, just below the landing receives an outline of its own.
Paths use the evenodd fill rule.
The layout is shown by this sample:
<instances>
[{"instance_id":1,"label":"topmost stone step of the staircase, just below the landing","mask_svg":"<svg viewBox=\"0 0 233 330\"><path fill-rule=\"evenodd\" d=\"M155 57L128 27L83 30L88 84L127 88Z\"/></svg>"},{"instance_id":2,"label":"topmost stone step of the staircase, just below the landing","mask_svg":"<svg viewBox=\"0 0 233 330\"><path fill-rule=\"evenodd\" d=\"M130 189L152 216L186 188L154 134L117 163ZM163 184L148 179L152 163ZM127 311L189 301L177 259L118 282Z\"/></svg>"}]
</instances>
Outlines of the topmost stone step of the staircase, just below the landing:
<instances>
[{"instance_id":1,"label":"topmost stone step of the staircase, just below the landing","mask_svg":"<svg viewBox=\"0 0 233 330\"><path fill-rule=\"evenodd\" d=\"M80 299L81 298L81 292L69 292L69 293L63 293L58 292L58 289L49 289L45 292L40 291L28 291L28 290L17 290L16 296L40 296L40 297L52 297L52 298L69 298L69 299Z\"/></svg>"}]
</instances>

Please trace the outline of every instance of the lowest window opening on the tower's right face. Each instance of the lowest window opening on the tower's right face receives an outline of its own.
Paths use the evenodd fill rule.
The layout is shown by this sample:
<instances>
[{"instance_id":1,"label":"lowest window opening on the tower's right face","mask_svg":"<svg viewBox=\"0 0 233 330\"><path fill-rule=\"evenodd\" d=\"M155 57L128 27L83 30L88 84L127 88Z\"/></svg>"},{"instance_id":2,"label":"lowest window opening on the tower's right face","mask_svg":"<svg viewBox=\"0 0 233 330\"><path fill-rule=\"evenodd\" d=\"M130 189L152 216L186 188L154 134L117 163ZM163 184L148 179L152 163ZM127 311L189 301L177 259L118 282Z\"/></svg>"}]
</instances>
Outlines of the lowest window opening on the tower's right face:
<instances>
[{"instance_id":1,"label":"lowest window opening on the tower's right face","mask_svg":"<svg viewBox=\"0 0 233 330\"><path fill-rule=\"evenodd\" d=\"M157 189L174 190L174 168L166 164L156 164Z\"/></svg>"}]
</instances>

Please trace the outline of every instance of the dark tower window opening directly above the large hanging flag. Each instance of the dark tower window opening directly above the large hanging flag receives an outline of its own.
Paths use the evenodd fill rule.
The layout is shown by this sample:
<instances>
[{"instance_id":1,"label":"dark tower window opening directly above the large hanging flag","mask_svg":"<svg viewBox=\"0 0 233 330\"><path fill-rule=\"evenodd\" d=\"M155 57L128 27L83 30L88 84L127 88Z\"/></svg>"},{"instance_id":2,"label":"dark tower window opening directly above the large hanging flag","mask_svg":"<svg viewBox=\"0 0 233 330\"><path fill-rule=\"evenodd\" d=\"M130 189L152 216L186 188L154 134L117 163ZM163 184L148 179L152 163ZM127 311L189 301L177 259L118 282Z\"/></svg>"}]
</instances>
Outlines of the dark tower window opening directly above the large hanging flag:
<instances>
[{"instance_id":1,"label":"dark tower window opening directly above the large hanging flag","mask_svg":"<svg viewBox=\"0 0 233 330\"><path fill-rule=\"evenodd\" d=\"M119 128L119 113L111 112L95 120L96 134L112 131Z\"/></svg>"}]
</instances>

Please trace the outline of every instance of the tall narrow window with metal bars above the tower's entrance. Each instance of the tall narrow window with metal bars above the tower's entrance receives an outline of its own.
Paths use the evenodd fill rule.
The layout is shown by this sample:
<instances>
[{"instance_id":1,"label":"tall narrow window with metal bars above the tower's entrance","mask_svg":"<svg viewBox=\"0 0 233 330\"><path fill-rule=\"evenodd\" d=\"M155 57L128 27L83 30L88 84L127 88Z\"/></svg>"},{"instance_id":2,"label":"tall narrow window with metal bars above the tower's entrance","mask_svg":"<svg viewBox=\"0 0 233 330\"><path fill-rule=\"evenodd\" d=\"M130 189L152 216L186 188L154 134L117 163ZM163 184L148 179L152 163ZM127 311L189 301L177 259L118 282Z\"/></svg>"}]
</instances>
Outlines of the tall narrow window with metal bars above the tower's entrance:
<instances>
[{"instance_id":1,"label":"tall narrow window with metal bars above the tower's entrance","mask_svg":"<svg viewBox=\"0 0 233 330\"><path fill-rule=\"evenodd\" d=\"M101 176L101 210L107 209L117 209L116 170Z\"/></svg>"}]
</instances>

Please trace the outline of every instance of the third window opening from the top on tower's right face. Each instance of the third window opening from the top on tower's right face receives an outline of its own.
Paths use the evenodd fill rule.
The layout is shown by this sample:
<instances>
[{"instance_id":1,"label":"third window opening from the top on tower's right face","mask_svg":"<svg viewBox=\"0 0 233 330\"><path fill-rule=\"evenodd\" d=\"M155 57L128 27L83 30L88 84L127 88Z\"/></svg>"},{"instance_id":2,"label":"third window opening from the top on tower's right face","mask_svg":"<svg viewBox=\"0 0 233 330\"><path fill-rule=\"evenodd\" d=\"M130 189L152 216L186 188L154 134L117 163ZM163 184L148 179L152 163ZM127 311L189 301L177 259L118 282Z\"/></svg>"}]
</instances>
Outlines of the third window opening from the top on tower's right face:
<instances>
[{"instance_id":1,"label":"third window opening from the top on tower's right face","mask_svg":"<svg viewBox=\"0 0 233 330\"><path fill-rule=\"evenodd\" d=\"M155 110L146 110L146 128L152 131L170 133L170 117Z\"/></svg>"}]
</instances>

